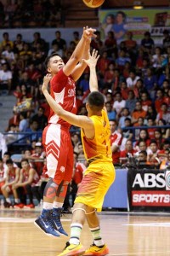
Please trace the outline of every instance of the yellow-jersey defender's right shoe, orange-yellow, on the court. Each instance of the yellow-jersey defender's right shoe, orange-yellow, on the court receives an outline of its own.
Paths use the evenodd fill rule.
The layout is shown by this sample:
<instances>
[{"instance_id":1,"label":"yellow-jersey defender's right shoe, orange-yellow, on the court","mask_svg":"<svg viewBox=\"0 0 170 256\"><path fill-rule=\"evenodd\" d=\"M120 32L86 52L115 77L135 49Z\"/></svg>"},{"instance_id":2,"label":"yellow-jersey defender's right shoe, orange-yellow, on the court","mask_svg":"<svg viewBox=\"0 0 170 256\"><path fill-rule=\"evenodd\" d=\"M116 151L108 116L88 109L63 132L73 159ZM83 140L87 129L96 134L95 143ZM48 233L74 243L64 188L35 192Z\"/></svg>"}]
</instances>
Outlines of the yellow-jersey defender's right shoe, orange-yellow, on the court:
<instances>
[{"instance_id":1,"label":"yellow-jersey defender's right shoe, orange-yellow, on the court","mask_svg":"<svg viewBox=\"0 0 170 256\"><path fill-rule=\"evenodd\" d=\"M103 247L97 247L95 244L93 244L83 255L105 256L107 254L109 254L109 248L106 246L106 244Z\"/></svg>"}]
</instances>

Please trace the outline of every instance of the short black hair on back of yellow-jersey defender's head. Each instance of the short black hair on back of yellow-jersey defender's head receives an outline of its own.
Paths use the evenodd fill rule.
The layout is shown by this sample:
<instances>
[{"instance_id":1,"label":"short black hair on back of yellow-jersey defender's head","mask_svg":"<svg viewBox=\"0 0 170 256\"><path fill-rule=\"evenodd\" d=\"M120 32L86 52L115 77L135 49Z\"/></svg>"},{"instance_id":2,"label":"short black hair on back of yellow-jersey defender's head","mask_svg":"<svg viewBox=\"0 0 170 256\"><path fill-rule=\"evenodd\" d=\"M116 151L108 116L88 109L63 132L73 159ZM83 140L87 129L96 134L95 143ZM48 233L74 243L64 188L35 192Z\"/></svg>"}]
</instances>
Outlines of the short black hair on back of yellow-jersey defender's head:
<instances>
[{"instance_id":1,"label":"short black hair on back of yellow-jersey defender's head","mask_svg":"<svg viewBox=\"0 0 170 256\"><path fill-rule=\"evenodd\" d=\"M88 104L90 108L99 111L104 108L105 98L99 91L93 91L88 95Z\"/></svg>"}]
</instances>

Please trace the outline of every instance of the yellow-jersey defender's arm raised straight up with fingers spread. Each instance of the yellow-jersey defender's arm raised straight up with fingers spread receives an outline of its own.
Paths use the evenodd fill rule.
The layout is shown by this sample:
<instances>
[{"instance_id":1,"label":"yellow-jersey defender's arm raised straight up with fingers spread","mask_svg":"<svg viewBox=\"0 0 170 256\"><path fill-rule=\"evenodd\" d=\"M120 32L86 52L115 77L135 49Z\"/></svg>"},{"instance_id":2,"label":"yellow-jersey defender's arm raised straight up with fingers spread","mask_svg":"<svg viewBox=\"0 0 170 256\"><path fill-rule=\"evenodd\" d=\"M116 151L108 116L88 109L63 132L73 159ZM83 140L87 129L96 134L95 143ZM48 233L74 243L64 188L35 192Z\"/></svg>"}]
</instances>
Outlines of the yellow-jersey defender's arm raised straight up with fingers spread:
<instances>
[{"instance_id":1,"label":"yellow-jersey defender's arm raised straight up with fingers spread","mask_svg":"<svg viewBox=\"0 0 170 256\"><path fill-rule=\"evenodd\" d=\"M90 68L89 85L90 85L91 92L95 90L99 91L98 79L96 74L96 64L98 59L99 59L98 51L94 49L92 52L92 55L90 55L90 51L88 50L88 60L83 60Z\"/></svg>"}]
</instances>

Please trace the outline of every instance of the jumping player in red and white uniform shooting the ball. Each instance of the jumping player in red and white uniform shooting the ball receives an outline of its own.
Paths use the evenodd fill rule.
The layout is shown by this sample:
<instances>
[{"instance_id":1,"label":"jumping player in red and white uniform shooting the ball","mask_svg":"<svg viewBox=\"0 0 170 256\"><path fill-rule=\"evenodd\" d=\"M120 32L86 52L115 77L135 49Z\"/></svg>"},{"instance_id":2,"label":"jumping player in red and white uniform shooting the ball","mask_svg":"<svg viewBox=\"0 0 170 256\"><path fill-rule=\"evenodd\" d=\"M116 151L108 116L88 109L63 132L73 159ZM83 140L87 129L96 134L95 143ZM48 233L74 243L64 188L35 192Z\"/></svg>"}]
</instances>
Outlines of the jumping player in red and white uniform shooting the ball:
<instances>
[{"instance_id":1,"label":"jumping player in red and white uniform shooting the ball","mask_svg":"<svg viewBox=\"0 0 170 256\"><path fill-rule=\"evenodd\" d=\"M50 93L56 103L71 113L77 112L75 81L86 68L82 58L88 59L90 38L95 30L84 28L82 38L70 60L64 64L59 55L50 55L45 61L51 74ZM73 171L73 148L69 133L70 124L51 109L48 126L42 134L42 143L46 148L48 181L43 194L43 208L35 224L48 236L68 236L60 222L60 214L65 200L68 183Z\"/></svg>"}]
</instances>

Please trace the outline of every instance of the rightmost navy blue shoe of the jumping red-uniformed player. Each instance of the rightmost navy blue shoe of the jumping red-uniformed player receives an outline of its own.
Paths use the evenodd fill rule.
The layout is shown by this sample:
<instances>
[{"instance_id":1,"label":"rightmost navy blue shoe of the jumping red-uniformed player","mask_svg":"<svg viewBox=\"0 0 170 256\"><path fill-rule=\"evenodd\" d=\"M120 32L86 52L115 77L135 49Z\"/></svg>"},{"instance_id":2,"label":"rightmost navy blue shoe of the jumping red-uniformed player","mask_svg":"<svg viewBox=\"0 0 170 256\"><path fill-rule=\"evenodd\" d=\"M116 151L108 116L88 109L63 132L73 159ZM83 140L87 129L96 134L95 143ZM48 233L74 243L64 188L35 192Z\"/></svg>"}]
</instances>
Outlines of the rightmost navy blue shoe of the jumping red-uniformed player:
<instances>
[{"instance_id":1,"label":"rightmost navy blue shoe of the jumping red-uniformed player","mask_svg":"<svg viewBox=\"0 0 170 256\"><path fill-rule=\"evenodd\" d=\"M54 222L54 230L57 230L61 235L68 236L60 221L62 210L63 208L53 208L52 219Z\"/></svg>"}]
</instances>

